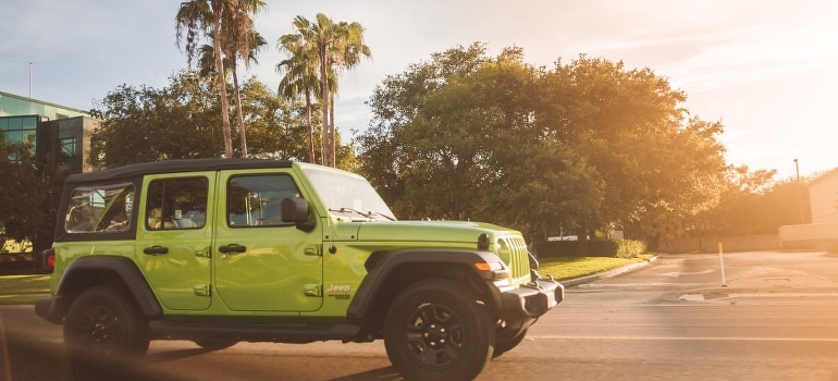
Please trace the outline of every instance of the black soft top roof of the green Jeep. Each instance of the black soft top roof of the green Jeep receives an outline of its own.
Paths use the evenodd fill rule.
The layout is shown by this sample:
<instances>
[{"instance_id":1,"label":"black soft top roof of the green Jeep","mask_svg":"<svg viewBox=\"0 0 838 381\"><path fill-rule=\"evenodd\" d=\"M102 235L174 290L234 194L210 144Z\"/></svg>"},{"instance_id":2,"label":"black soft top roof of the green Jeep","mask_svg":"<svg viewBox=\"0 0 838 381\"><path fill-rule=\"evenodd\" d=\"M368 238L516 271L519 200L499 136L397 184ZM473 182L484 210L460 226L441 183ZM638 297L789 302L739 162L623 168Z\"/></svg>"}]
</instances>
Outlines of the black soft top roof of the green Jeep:
<instances>
[{"instance_id":1,"label":"black soft top roof of the green Jeep","mask_svg":"<svg viewBox=\"0 0 838 381\"><path fill-rule=\"evenodd\" d=\"M87 183L112 179L127 179L145 174L175 173L175 172L197 172L197 171L217 171L235 170L251 168L289 168L293 161L289 160L264 160L264 159L180 159L167 161L143 162L128 164L125 167L71 174L64 181L65 184Z\"/></svg>"}]
</instances>

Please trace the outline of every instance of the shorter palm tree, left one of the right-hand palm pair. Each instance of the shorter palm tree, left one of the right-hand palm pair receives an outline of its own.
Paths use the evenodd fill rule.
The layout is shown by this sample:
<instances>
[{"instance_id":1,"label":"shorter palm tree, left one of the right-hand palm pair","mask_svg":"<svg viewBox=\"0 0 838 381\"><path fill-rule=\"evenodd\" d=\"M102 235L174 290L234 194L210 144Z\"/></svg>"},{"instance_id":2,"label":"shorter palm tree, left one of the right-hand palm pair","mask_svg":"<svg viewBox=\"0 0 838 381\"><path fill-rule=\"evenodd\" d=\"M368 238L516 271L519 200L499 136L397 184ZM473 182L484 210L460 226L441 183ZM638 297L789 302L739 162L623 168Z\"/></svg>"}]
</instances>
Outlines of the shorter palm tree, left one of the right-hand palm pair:
<instances>
[{"instance_id":1,"label":"shorter palm tree, left one of the right-hand palm pair","mask_svg":"<svg viewBox=\"0 0 838 381\"><path fill-rule=\"evenodd\" d=\"M309 22L303 16L294 19L294 26L299 30L298 34L283 35L276 41L276 47L291 54L289 58L281 61L276 65L276 72L283 74L280 81L279 95L285 99L295 99L303 94L306 99L306 121L308 122L308 157L310 162L316 162L315 158L315 126L311 122L311 96L320 97L317 77L317 52L311 49L304 38L303 33L309 29ZM322 131L321 131L322 134ZM321 135L320 151L323 151L323 139Z\"/></svg>"}]
</instances>

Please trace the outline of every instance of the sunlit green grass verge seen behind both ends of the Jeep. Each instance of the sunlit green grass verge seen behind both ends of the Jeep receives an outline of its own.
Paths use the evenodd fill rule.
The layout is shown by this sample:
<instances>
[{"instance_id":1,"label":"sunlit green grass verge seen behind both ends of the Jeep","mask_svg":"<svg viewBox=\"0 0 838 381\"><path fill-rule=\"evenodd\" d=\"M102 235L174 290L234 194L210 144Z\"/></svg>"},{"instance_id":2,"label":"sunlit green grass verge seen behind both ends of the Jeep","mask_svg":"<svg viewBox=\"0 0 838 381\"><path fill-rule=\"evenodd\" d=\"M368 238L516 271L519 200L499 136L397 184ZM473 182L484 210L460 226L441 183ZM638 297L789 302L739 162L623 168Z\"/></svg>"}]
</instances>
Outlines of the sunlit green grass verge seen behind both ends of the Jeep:
<instances>
[{"instance_id":1,"label":"sunlit green grass verge seen behind both ends of the Jeep","mask_svg":"<svg viewBox=\"0 0 838 381\"><path fill-rule=\"evenodd\" d=\"M637 258L605 257L558 257L540 260L539 273L553 275L556 280L569 280L593 275L626 265L642 262L652 258L645 254ZM0 305L27 305L49 294L49 275L0 275Z\"/></svg>"}]
</instances>

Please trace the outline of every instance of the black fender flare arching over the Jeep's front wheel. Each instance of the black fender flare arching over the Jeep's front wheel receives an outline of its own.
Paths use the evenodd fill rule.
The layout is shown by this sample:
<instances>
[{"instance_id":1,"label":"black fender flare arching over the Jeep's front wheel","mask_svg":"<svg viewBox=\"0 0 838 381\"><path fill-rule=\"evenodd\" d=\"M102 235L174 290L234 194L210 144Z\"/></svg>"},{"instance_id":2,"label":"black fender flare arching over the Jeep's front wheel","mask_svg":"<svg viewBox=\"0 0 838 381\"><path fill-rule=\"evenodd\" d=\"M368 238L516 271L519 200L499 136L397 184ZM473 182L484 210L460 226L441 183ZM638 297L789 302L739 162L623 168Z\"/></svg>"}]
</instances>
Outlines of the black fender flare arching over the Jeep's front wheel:
<instances>
[{"instance_id":1,"label":"black fender flare arching over the Jeep's front wheel","mask_svg":"<svg viewBox=\"0 0 838 381\"><path fill-rule=\"evenodd\" d=\"M495 261L502 262L494 253L484 250L426 248L373 253L367 259L365 265L368 271L367 276L358 286L358 291L346 310L346 317L349 320L365 320L387 276L400 266L411 263L466 265L477 278L492 282L508 275L509 270L506 269L506 266L500 270L480 271L475 267L475 263ZM500 291L496 287L489 288L493 294L492 298L500 300Z\"/></svg>"}]
</instances>

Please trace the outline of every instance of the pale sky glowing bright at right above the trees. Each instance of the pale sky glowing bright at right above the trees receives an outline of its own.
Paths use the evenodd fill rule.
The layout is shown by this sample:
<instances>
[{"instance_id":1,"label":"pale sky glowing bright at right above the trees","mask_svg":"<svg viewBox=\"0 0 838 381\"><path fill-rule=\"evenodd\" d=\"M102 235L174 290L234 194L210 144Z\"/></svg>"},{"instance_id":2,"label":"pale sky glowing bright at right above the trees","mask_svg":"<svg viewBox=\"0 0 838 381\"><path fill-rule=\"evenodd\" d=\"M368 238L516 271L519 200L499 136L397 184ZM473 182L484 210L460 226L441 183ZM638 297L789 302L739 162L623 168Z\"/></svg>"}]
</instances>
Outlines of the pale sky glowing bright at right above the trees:
<instances>
[{"instance_id":1,"label":"pale sky glowing bright at right above the trees","mask_svg":"<svg viewBox=\"0 0 838 381\"><path fill-rule=\"evenodd\" d=\"M552 67L584 53L649 67L687 94L691 116L720 121L730 164L775 180L838 168L838 1L266 0L256 76L276 88L276 40L297 15L358 22L372 59L341 79L344 136L369 125L365 101L387 75L432 53L484 42ZM181 0L0 0L0 91L89 110L120 85L164 87L186 67ZM798 160L797 167L794 160Z\"/></svg>"}]
</instances>

